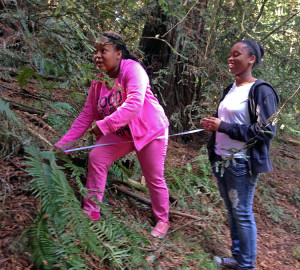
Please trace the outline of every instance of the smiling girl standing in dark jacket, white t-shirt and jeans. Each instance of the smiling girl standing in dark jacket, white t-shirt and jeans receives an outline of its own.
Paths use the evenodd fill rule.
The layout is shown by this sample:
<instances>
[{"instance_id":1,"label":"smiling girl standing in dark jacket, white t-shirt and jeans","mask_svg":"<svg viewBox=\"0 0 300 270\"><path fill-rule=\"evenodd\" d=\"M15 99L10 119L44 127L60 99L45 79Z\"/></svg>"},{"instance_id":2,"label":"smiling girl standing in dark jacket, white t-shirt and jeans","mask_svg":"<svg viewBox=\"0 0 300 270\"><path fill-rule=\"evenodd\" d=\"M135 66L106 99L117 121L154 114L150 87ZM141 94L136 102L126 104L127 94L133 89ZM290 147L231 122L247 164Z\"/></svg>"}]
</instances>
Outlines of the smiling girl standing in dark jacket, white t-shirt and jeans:
<instances>
[{"instance_id":1,"label":"smiling girl standing in dark jacket, white t-shirt and jeans","mask_svg":"<svg viewBox=\"0 0 300 270\"><path fill-rule=\"evenodd\" d=\"M202 120L203 127L213 131L209 159L228 212L233 258L215 257L225 268L255 268L255 185L259 173L273 169L269 149L276 124L270 119L275 116L279 99L270 84L252 76L263 55L263 48L253 40L233 45L228 65L235 82L224 90L216 117ZM230 160L228 166L224 166L226 159Z\"/></svg>"}]
</instances>

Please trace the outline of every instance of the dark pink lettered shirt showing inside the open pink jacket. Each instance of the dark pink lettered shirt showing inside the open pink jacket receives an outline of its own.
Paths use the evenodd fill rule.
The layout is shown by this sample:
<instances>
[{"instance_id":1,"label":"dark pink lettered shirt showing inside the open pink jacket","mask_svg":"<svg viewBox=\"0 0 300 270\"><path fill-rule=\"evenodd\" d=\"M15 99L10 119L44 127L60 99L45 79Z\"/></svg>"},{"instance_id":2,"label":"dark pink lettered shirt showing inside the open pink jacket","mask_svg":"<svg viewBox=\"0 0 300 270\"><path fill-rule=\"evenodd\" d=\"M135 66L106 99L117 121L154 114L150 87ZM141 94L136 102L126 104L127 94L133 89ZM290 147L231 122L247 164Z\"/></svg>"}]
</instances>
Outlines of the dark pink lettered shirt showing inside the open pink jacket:
<instances>
[{"instance_id":1,"label":"dark pink lettered shirt showing inside the open pink jacket","mask_svg":"<svg viewBox=\"0 0 300 270\"><path fill-rule=\"evenodd\" d=\"M117 86L116 88L113 87L111 90L109 90L103 83L100 97L97 100L97 110L99 115L102 118L105 118L106 116L113 114L117 108L124 103L125 100L126 93L124 90L120 89L120 86ZM132 138L128 125L121 127L115 133L122 137L126 136Z\"/></svg>"}]
</instances>

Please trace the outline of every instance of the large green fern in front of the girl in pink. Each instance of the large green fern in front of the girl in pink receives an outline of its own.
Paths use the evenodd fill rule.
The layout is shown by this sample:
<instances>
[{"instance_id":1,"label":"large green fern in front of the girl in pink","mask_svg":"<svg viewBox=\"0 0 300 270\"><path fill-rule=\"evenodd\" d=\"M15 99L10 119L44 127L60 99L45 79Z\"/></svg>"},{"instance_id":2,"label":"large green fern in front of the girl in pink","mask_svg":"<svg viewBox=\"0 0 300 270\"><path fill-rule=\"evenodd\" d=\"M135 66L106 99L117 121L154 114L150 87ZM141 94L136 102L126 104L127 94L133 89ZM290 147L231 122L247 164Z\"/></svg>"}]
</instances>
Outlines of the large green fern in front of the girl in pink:
<instances>
[{"instance_id":1,"label":"large green fern in front of the girl in pink","mask_svg":"<svg viewBox=\"0 0 300 270\"><path fill-rule=\"evenodd\" d=\"M107 222L90 226L62 171L64 167L56 164L54 153L39 152L36 148L26 151L30 154L26 164L33 177L33 192L41 202L41 213L27 233L37 267L87 269L86 258L90 253L118 269L142 262L137 249L137 243L145 242L141 236L131 233L103 205ZM71 163L66 167L72 169L79 182L83 170ZM84 195L86 190L82 184L79 186Z\"/></svg>"}]
</instances>

